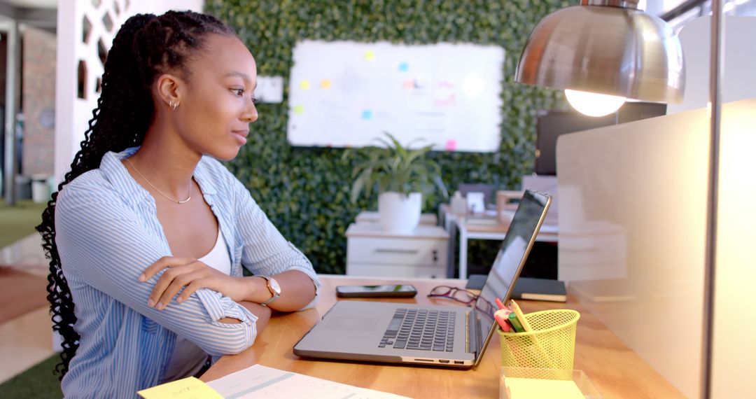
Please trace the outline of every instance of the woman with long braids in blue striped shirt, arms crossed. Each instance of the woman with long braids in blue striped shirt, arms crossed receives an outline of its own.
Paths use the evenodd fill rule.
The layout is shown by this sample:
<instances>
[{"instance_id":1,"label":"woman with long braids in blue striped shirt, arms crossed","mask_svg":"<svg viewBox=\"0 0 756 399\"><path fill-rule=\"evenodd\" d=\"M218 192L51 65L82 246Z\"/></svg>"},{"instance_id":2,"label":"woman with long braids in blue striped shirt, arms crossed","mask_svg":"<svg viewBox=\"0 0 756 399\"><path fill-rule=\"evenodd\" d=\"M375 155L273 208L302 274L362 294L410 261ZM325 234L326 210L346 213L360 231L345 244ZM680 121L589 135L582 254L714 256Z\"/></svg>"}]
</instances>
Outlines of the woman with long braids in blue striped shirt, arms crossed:
<instances>
[{"instance_id":1,"label":"woman with long braids in blue striped shirt, arms crossed","mask_svg":"<svg viewBox=\"0 0 756 399\"><path fill-rule=\"evenodd\" d=\"M82 149L37 229L67 397L134 397L253 344L320 283L215 159L245 144L256 64L214 17L129 18ZM241 265L253 277L242 277Z\"/></svg>"}]
</instances>

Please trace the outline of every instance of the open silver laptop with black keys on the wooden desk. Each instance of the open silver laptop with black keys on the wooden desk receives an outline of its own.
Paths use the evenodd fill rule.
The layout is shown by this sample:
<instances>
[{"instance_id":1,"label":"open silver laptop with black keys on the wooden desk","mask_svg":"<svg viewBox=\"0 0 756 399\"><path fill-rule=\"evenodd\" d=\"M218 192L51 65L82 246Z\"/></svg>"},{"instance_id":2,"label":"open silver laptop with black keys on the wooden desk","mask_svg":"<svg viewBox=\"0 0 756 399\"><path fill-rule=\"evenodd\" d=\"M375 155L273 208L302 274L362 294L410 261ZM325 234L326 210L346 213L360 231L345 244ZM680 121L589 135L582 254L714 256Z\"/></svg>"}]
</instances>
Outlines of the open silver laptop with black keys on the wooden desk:
<instances>
[{"instance_id":1,"label":"open silver laptop with black keys on the wooden desk","mask_svg":"<svg viewBox=\"0 0 756 399\"><path fill-rule=\"evenodd\" d=\"M550 204L548 194L525 190L480 296L472 305L339 301L294 345L294 354L380 363L477 366L495 331L494 300L506 302L510 298Z\"/></svg>"}]
</instances>

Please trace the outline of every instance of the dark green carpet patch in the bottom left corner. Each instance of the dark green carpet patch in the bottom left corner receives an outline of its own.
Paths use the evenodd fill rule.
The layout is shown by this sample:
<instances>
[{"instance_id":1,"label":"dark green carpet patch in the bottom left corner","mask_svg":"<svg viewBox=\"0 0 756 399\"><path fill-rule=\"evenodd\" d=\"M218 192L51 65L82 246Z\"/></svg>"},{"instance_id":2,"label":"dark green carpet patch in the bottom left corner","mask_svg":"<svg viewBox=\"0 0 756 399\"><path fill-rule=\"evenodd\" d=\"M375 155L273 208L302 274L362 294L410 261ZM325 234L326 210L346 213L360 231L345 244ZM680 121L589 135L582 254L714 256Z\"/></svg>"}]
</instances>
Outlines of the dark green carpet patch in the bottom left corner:
<instances>
[{"instance_id":1,"label":"dark green carpet patch in the bottom left corner","mask_svg":"<svg viewBox=\"0 0 756 399\"><path fill-rule=\"evenodd\" d=\"M6 359L8 360L8 359ZM60 356L54 354L35 367L20 373L0 385L0 397L14 399L47 399L63 397L60 381L52 370L60 362Z\"/></svg>"}]
</instances>

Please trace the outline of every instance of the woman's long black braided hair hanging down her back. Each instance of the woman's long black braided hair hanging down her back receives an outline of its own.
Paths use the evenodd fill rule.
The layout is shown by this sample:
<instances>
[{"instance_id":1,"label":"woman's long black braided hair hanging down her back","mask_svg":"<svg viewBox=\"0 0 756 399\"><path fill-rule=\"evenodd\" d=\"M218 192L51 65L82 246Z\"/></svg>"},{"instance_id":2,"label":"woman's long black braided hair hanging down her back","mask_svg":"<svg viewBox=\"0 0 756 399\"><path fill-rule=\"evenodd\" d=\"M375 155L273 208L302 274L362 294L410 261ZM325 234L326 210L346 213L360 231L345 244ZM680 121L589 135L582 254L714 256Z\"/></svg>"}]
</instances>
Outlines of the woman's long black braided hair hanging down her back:
<instances>
[{"instance_id":1,"label":"woman's long black braided hair hanging down her back","mask_svg":"<svg viewBox=\"0 0 756 399\"><path fill-rule=\"evenodd\" d=\"M79 175L100 167L105 153L119 152L144 141L155 104L150 85L162 73L178 72L188 78L187 60L203 50L210 34L234 36L233 29L209 15L192 11L168 11L166 14L138 14L123 23L113 39L105 62L98 106L85 132L81 150L71 163L71 170L57 186L60 191ZM55 201L57 192L42 212L42 248L50 259L48 301L53 330L63 337L63 351L53 373L60 379L68 372L71 358L79 348L79 334L74 303L66 277L60 268L55 246Z\"/></svg>"}]
</instances>

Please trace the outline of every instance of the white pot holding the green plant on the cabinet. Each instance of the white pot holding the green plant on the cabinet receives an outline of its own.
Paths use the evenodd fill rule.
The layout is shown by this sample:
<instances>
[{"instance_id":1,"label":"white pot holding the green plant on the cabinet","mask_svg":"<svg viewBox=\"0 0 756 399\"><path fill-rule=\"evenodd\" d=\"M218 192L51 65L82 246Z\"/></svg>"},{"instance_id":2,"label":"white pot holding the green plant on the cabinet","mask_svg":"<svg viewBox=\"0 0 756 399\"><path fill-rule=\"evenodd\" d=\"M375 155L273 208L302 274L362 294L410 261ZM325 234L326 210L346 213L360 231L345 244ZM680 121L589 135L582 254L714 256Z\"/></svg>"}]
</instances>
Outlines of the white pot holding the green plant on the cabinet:
<instances>
[{"instance_id":1,"label":"white pot holding the green plant on the cabinet","mask_svg":"<svg viewBox=\"0 0 756 399\"><path fill-rule=\"evenodd\" d=\"M378 196L378 214L383 230L390 233L411 234L420 223L423 205L421 193L386 192Z\"/></svg>"}]
</instances>

